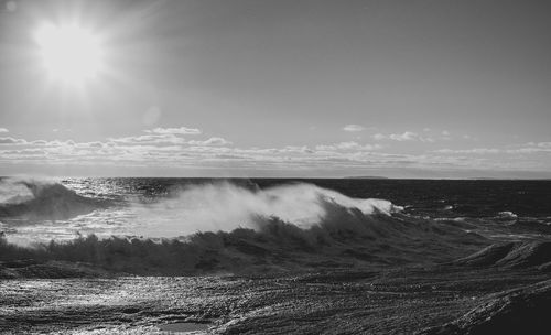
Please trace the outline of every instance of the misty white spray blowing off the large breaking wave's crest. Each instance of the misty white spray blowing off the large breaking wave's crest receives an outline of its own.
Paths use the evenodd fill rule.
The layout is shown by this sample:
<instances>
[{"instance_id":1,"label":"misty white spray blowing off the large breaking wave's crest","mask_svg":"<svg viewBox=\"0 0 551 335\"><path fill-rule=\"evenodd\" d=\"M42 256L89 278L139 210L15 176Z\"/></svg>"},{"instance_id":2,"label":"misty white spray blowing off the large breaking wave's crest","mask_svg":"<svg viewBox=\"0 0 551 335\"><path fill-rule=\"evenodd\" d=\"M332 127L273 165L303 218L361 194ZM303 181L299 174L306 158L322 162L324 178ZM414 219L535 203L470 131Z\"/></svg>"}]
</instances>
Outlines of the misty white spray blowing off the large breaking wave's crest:
<instances>
[{"instance_id":1,"label":"misty white spray blowing off the large breaking wave's crest","mask_svg":"<svg viewBox=\"0 0 551 335\"><path fill-rule=\"evenodd\" d=\"M181 236L196 231L258 229L267 218L310 228L327 216L327 205L365 215L401 210L383 199L358 199L312 184L294 183L253 190L229 182L187 185L168 198L134 204L133 213L144 223L137 227L147 236Z\"/></svg>"}]
</instances>

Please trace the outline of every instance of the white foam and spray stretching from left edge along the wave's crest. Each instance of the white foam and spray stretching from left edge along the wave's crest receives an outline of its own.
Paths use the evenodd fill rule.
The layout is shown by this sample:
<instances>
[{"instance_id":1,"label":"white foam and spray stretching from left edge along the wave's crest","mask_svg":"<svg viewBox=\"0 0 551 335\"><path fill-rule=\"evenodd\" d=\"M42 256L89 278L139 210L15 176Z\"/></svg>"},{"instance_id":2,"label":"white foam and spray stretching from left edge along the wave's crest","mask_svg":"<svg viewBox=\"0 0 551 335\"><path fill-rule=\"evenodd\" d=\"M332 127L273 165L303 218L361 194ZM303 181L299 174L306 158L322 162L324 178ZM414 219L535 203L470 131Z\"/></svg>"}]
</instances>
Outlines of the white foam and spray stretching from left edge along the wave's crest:
<instances>
[{"instance_id":1,"label":"white foam and spray stretching from left edge along the wave's crest","mask_svg":"<svg viewBox=\"0 0 551 335\"><path fill-rule=\"evenodd\" d=\"M65 193L54 194L57 195L65 196ZM352 198L305 183L251 190L229 182L215 182L188 185L171 197L151 203L134 201L126 206L89 210L71 219L33 217L26 224L11 225L14 230L8 237L18 242L72 239L77 234L179 237L239 227L259 229L259 225L272 217L307 229L324 220L332 208L365 215L389 215L403 209L388 201Z\"/></svg>"}]
</instances>

